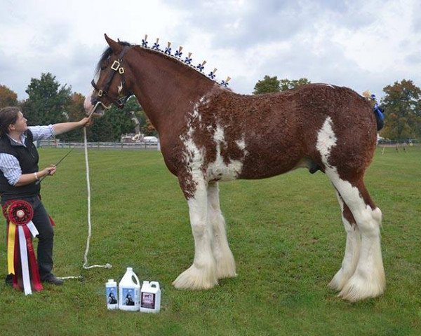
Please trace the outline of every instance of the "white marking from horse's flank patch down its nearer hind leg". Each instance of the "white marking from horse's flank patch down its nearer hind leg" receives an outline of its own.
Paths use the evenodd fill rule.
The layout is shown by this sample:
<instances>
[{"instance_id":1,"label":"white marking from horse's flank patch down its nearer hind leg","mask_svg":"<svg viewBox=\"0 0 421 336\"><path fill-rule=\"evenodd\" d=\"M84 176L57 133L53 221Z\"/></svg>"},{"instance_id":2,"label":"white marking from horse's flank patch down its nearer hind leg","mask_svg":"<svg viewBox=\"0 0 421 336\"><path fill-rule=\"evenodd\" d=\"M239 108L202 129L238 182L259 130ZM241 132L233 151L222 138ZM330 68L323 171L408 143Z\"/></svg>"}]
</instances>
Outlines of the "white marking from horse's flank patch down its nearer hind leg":
<instances>
[{"instance_id":1,"label":"white marking from horse's flank patch down its nearer hind leg","mask_svg":"<svg viewBox=\"0 0 421 336\"><path fill-rule=\"evenodd\" d=\"M332 119L327 117L317 134L316 148L321 155L326 175L351 210L361 232L361 247L355 272L339 294L347 300L356 301L375 297L385 290L385 270L380 248L382 212L378 208L371 209L364 202L359 189L352 186L349 181L341 179L338 169L329 162L332 148L336 146L338 140L332 126Z\"/></svg>"}]
</instances>

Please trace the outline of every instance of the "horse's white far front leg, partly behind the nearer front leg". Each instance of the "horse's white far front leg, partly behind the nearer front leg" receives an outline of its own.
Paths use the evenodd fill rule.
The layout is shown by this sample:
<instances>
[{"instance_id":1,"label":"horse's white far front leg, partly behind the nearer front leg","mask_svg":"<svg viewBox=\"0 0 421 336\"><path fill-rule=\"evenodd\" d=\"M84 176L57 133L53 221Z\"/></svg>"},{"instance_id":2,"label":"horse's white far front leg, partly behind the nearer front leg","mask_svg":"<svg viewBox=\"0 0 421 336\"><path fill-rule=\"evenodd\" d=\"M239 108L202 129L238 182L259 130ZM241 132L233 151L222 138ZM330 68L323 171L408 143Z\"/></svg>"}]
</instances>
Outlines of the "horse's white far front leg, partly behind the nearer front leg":
<instances>
[{"instance_id":1,"label":"horse's white far front leg, partly behind the nearer front leg","mask_svg":"<svg viewBox=\"0 0 421 336\"><path fill-rule=\"evenodd\" d=\"M216 261L216 275L218 279L236 276L234 256L229 249L225 219L220 210L218 182L211 182L208 186L208 221L212 226L212 251Z\"/></svg>"}]
</instances>

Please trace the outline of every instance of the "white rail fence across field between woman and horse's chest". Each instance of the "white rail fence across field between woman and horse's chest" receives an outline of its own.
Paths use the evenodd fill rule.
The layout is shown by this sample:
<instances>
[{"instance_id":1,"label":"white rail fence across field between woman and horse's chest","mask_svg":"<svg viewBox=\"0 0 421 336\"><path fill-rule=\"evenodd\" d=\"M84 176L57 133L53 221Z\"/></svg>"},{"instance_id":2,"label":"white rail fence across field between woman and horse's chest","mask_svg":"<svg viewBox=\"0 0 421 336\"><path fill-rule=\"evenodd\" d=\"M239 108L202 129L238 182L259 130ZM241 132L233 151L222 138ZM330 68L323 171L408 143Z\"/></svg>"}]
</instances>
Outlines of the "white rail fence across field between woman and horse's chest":
<instances>
[{"instance_id":1,"label":"white rail fence across field between woman and horse's chest","mask_svg":"<svg viewBox=\"0 0 421 336\"><path fill-rule=\"evenodd\" d=\"M52 148L83 148L83 142L65 142L57 141L54 139L41 140L36 146L38 147L52 147ZM120 149L120 150L143 150L143 151L161 151L158 144L152 144L147 142L134 142L134 143L123 143L123 142L88 142L88 148L102 149Z\"/></svg>"}]
</instances>

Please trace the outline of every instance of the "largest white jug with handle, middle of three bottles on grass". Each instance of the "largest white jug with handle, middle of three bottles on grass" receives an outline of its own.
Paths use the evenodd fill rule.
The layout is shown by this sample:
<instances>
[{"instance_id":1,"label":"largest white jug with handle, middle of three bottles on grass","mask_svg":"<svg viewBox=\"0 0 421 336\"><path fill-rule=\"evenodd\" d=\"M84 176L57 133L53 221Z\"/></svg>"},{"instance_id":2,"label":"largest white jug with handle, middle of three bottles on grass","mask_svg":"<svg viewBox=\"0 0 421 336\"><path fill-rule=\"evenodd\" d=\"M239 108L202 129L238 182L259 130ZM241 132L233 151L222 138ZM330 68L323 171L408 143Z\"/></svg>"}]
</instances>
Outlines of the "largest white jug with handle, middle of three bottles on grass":
<instances>
[{"instance_id":1,"label":"largest white jug with handle, middle of three bottles on grass","mask_svg":"<svg viewBox=\"0 0 421 336\"><path fill-rule=\"evenodd\" d=\"M127 267L119 283L119 308L121 310L138 311L140 304L140 281L133 272L132 267Z\"/></svg>"}]
</instances>

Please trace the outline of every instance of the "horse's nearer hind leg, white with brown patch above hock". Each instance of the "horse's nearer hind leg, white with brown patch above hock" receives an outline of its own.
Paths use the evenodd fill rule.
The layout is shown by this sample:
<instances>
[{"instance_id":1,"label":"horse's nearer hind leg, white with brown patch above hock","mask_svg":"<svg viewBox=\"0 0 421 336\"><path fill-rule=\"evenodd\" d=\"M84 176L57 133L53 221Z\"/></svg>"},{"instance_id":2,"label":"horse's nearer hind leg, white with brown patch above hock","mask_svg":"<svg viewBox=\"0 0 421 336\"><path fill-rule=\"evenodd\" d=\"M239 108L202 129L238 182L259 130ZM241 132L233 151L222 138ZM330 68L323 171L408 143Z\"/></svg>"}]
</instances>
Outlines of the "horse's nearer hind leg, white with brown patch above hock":
<instances>
[{"instance_id":1,"label":"horse's nearer hind leg, white with brown patch above hock","mask_svg":"<svg viewBox=\"0 0 421 336\"><path fill-rule=\"evenodd\" d=\"M386 287L380 247L382 212L370 199L362 176L350 183L340 179L336 169L326 169L326 174L351 210L361 233L361 247L355 272L339 295L349 301L381 295Z\"/></svg>"}]
</instances>

